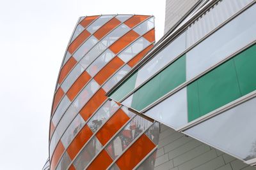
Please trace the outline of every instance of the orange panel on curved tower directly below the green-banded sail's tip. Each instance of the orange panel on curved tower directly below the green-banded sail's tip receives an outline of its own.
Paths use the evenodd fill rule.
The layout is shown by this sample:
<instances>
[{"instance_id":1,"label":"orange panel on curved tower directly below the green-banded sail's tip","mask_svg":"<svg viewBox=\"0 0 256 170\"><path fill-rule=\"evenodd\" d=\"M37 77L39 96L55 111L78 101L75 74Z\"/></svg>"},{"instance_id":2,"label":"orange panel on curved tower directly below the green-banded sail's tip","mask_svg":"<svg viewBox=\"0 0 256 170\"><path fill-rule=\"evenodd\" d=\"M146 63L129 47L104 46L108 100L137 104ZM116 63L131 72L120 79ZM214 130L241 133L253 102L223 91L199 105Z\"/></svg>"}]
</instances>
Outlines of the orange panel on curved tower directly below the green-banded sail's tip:
<instances>
[{"instance_id":1,"label":"orange panel on curved tower directly below the green-banded sail's tip","mask_svg":"<svg viewBox=\"0 0 256 170\"><path fill-rule=\"evenodd\" d=\"M116 111L106 124L97 132L96 136L102 145L105 145L109 139L129 120L129 117L122 109Z\"/></svg>"}]
</instances>

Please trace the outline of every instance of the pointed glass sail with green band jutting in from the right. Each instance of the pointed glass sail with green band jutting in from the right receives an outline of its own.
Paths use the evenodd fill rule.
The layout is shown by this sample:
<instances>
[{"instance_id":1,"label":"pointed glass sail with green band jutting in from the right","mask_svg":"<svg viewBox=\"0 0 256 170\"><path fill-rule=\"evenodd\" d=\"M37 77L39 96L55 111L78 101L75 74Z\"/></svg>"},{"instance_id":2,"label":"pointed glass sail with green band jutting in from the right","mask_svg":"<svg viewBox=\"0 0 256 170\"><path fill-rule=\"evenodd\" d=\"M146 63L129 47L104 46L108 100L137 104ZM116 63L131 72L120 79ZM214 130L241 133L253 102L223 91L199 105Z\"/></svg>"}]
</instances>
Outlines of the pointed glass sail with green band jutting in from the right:
<instances>
[{"instance_id":1,"label":"pointed glass sail with green band jutting in from the right","mask_svg":"<svg viewBox=\"0 0 256 170\"><path fill-rule=\"evenodd\" d=\"M218 1L109 97L255 162L255 15L255 1Z\"/></svg>"}]
</instances>

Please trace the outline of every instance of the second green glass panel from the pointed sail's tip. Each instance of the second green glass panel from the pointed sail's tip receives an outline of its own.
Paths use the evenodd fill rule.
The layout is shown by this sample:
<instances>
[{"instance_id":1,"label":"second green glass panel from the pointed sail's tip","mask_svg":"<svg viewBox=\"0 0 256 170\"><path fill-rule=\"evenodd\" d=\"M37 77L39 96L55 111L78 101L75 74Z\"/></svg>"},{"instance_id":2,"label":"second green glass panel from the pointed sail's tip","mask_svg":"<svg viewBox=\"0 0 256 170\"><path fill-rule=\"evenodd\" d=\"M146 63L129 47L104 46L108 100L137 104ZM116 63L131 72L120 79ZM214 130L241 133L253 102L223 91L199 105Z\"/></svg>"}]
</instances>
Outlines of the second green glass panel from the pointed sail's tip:
<instances>
[{"instance_id":1,"label":"second green glass panel from the pointed sail's tip","mask_svg":"<svg viewBox=\"0 0 256 170\"><path fill-rule=\"evenodd\" d=\"M138 89L132 97L131 108L140 111L148 106L148 104L159 99L159 82L160 76L155 76L143 85L143 87Z\"/></svg>"}]
</instances>

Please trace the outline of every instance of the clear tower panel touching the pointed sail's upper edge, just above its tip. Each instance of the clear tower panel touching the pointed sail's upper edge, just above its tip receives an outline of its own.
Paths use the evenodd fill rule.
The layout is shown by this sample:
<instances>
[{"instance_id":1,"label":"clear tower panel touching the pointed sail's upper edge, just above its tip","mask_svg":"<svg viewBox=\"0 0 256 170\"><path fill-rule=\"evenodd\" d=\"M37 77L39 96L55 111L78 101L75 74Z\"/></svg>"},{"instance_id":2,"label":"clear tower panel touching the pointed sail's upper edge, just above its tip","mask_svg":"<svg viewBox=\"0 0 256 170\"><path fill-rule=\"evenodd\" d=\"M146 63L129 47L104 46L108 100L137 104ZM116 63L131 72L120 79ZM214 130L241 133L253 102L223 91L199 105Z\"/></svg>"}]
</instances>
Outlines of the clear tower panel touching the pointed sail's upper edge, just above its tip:
<instances>
[{"instance_id":1,"label":"clear tower panel touching the pointed sail's upper edge, just above its tip","mask_svg":"<svg viewBox=\"0 0 256 170\"><path fill-rule=\"evenodd\" d=\"M105 92L108 92L118 81L120 81L125 74L131 69L131 67L125 65L120 70L118 70L109 80L103 85L102 89L105 90Z\"/></svg>"}]
</instances>

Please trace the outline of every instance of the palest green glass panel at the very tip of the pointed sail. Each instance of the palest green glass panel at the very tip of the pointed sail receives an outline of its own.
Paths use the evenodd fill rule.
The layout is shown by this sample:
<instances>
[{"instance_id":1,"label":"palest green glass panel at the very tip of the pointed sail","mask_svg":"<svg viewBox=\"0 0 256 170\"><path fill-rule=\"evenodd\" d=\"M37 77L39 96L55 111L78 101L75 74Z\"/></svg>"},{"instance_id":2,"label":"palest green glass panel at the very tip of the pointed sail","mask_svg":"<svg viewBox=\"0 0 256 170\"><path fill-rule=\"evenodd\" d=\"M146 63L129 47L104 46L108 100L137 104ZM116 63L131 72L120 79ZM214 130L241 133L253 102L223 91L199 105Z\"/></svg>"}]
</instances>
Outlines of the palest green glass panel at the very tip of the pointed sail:
<instances>
[{"instance_id":1,"label":"palest green glass panel at the very tip of the pointed sail","mask_svg":"<svg viewBox=\"0 0 256 170\"><path fill-rule=\"evenodd\" d=\"M110 94L110 98L114 99L115 101L120 101L124 96L129 94L134 89L136 78L137 78L138 71L134 72L132 76L127 78L118 89L116 89L112 94Z\"/></svg>"}]
</instances>

